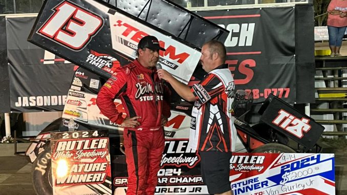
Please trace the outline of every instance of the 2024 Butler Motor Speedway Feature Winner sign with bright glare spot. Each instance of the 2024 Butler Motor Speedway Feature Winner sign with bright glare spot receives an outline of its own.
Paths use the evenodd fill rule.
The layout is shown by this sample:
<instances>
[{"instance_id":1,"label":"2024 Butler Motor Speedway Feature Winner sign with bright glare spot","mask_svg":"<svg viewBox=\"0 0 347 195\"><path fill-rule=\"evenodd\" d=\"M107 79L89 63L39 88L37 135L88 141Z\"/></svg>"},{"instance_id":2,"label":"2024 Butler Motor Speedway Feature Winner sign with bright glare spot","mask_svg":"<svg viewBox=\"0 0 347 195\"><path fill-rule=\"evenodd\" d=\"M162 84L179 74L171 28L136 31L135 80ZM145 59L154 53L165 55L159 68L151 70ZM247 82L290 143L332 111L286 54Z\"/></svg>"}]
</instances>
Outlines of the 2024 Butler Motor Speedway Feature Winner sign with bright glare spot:
<instances>
[{"instance_id":1,"label":"2024 Butler Motor Speedway Feature Winner sign with bright glare spot","mask_svg":"<svg viewBox=\"0 0 347 195\"><path fill-rule=\"evenodd\" d=\"M112 194L107 130L51 133L54 194Z\"/></svg>"}]
</instances>

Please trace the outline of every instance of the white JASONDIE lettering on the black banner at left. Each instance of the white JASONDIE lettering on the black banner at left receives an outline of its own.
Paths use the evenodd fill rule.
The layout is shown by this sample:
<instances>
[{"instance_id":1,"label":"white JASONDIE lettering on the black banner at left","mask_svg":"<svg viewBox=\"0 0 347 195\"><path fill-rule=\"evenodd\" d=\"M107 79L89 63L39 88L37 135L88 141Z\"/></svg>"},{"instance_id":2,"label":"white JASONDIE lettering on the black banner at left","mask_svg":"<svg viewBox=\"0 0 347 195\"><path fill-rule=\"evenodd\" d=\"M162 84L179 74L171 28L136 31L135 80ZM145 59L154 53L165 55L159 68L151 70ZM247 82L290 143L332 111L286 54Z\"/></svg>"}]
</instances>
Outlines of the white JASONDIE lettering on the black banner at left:
<instances>
[{"instance_id":1,"label":"white JASONDIE lettering on the black banner at left","mask_svg":"<svg viewBox=\"0 0 347 195\"><path fill-rule=\"evenodd\" d=\"M16 107L22 106L44 106L44 105L65 105L67 96L24 96L18 97L14 103Z\"/></svg>"}]
</instances>

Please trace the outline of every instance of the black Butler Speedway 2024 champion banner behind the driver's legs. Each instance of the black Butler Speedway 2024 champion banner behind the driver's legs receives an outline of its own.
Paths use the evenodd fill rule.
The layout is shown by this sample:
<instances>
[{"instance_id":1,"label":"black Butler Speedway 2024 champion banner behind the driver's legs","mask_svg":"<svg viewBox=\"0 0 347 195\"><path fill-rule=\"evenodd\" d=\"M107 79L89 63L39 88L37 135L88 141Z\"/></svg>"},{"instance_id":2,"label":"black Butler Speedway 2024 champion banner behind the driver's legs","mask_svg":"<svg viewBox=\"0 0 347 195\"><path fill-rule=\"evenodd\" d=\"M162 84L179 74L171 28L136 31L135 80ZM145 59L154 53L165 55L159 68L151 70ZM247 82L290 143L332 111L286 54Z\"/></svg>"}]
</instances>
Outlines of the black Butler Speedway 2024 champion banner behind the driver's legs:
<instances>
[{"instance_id":1,"label":"black Butler Speedway 2024 champion banner behind the driver's legs","mask_svg":"<svg viewBox=\"0 0 347 195\"><path fill-rule=\"evenodd\" d=\"M165 150L158 171L155 194L209 194L200 172L200 156L191 150L187 139L165 141ZM116 156L113 172L114 194L126 194L125 156Z\"/></svg>"}]
</instances>

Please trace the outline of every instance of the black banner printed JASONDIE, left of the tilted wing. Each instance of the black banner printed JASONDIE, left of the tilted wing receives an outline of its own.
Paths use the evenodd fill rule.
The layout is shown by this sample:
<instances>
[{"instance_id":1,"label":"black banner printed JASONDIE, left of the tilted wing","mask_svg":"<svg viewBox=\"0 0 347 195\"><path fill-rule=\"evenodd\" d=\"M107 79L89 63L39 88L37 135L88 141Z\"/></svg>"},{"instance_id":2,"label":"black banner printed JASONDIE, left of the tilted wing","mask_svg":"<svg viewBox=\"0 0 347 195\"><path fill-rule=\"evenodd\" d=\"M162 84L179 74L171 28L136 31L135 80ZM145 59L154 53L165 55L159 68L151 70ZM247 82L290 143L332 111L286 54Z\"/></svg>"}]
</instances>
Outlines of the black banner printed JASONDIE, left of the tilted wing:
<instances>
[{"instance_id":1,"label":"black banner printed JASONDIE, left of the tilted wing","mask_svg":"<svg viewBox=\"0 0 347 195\"><path fill-rule=\"evenodd\" d=\"M34 21L35 17L6 20L11 111L62 111L74 65L26 40Z\"/></svg>"}]
</instances>

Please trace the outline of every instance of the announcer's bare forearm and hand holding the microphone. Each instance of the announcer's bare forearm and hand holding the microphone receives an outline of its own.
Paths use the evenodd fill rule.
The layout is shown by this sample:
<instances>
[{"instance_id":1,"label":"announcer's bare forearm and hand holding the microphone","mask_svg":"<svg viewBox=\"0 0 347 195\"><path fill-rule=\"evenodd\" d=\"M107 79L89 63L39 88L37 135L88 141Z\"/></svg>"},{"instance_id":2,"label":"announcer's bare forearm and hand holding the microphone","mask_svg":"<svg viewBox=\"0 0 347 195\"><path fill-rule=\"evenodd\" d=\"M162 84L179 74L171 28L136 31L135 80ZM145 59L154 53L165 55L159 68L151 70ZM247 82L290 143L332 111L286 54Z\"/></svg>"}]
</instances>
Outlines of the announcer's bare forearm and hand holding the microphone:
<instances>
[{"instance_id":1,"label":"announcer's bare forearm and hand holding the microphone","mask_svg":"<svg viewBox=\"0 0 347 195\"><path fill-rule=\"evenodd\" d=\"M170 83L172 88L174 88L174 90L178 93L178 95L181 96L183 99L187 101L196 100L194 94L190 91L190 88L188 85L178 81L175 77L173 77L170 73L168 73L164 69L159 69L157 72L158 72L159 78L164 79L166 80L166 82Z\"/></svg>"}]
</instances>

